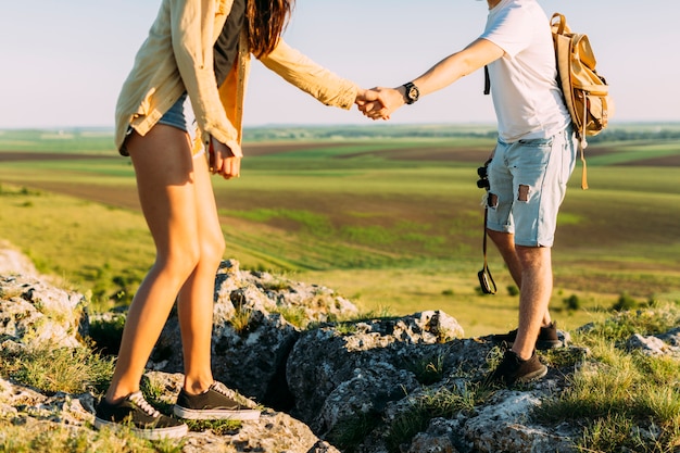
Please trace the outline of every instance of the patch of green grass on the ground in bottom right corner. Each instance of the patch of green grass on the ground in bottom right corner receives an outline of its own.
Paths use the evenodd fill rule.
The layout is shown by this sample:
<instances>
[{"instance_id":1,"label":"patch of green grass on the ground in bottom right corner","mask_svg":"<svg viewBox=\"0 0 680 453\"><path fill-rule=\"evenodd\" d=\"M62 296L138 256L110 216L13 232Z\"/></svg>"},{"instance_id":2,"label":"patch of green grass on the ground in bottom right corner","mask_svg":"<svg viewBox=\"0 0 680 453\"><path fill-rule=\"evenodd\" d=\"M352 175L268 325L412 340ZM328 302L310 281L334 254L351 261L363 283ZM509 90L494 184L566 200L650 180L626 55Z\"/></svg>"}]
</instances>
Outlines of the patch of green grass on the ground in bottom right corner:
<instances>
[{"instance_id":1,"label":"patch of green grass on the ground in bottom right corner","mask_svg":"<svg viewBox=\"0 0 680 453\"><path fill-rule=\"evenodd\" d=\"M590 356L569 376L570 387L534 414L541 421L576 423L582 452L671 453L680 444L680 363L670 355L626 351L634 332L665 334L678 326L678 304L624 312L575 335ZM633 429L642 427L646 432Z\"/></svg>"}]
</instances>

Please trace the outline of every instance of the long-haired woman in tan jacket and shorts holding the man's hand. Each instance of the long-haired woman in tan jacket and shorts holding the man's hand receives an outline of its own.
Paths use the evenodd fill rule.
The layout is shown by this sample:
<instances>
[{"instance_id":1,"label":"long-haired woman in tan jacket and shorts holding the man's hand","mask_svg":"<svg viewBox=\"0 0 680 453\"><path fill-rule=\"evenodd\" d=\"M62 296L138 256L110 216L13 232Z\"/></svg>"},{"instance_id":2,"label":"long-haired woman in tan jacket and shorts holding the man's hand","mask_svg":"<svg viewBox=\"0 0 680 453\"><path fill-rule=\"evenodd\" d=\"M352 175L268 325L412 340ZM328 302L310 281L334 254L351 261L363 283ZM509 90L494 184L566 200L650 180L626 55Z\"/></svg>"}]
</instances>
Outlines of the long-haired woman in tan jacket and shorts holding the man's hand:
<instances>
[{"instance_id":1,"label":"long-haired woman in tan jacket and shorts holding the man's hand","mask_svg":"<svg viewBox=\"0 0 680 453\"><path fill-rule=\"evenodd\" d=\"M131 158L156 260L129 313L96 427L130 425L149 439L187 426L144 401L139 381L177 301L185 382L174 413L191 419L257 419L215 382L211 338L215 273L225 242L210 175L239 176L250 54L327 105L350 109L364 91L288 47L280 35L294 0L163 0L116 106L116 146ZM198 126L191 139L185 99ZM207 149L205 159L204 149Z\"/></svg>"}]
</instances>

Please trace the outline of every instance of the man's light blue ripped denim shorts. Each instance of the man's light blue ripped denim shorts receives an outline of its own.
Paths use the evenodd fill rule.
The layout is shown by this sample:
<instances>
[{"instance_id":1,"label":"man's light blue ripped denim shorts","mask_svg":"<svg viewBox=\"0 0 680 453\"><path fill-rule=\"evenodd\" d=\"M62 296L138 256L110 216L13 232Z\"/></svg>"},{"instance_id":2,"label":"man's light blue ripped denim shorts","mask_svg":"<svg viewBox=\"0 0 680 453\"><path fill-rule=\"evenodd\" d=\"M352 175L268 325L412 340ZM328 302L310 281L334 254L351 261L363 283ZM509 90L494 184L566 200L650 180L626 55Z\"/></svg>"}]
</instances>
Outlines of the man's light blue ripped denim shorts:
<instances>
[{"instance_id":1,"label":"man's light blue ripped denim shorts","mask_svg":"<svg viewBox=\"0 0 680 453\"><path fill-rule=\"evenodd\" d=\"M489 164L487 227L525 247L552 247L557 212L576 165L571 126L550 137L498 141Z\"/></svg>"}]
</instances>

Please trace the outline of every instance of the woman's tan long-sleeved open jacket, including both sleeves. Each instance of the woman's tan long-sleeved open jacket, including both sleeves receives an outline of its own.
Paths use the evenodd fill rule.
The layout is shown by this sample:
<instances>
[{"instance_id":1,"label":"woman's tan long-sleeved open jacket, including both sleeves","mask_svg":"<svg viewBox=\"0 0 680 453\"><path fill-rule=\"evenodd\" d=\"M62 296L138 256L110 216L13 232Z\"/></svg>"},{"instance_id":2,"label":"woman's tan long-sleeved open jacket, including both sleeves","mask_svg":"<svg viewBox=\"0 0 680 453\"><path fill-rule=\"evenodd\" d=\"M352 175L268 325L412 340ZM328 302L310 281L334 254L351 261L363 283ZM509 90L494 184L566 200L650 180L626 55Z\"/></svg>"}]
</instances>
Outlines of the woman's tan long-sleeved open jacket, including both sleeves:
<instances>
[{"instance_id":1,"label":"woman's tan long-sleeved open jacket, including both sleeves","mask_svg":"<svg viewBox=\"0 0 680 453\"><path fill-rule=\"evenodd\" d=\"M146 135L185 91L191 100L198 137L203 144L211 136L227 146L241 143L243 101L250 71L245 30L241 34L235 66L219 89L213 68L213 46L232 2L162 1L149 37L137 52L118 96L115 143L122 154L127 155L125 138L129 127ZM349 110L354 103L357 92L354 83L319 66L282 39L260 61L326 105Z\"/></svg>"}]
</instances>

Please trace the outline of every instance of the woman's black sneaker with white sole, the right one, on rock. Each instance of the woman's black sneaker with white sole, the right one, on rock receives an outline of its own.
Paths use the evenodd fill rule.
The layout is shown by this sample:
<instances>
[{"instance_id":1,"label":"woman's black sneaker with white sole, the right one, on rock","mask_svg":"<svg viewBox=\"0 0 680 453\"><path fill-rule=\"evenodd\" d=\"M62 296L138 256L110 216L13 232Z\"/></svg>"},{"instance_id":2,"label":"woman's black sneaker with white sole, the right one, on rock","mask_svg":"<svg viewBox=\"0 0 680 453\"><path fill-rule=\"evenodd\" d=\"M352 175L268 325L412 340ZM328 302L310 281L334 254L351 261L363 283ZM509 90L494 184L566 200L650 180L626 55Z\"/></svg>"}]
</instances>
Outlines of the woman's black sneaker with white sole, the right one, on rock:
<instances>
[{"instance_id":1,"label":"woman's black sneaker with white sole, the right one, on rock","mask_svg":"<svg viewBox=\"0 0 680 453\"><path fill-rule=\"evenodd\" d=\"M179 392L175 415L191 420L256 420L260 411L252 401L227 389L222 382L213 382L203 393L191 395Z\"/></svg>"}]
</instances>

